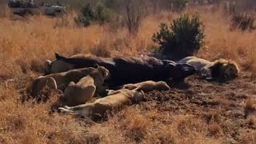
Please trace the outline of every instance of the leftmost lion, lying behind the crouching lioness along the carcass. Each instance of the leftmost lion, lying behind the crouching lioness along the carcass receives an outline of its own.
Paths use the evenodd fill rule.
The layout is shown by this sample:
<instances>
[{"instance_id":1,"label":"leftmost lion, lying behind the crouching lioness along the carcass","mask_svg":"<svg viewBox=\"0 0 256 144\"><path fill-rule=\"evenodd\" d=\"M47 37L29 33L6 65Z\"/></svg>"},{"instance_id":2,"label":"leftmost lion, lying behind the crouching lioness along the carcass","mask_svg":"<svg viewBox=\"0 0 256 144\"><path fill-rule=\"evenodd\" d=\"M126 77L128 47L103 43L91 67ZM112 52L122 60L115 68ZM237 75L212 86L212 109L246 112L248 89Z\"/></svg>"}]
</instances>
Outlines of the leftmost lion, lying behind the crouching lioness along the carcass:
<instances>
[{"instance_id":1,"label":"leftmost lion, lying behind the crouching lioness along the carcass","mask_svg":"<svg viewBox=\"0 0 256 144\"><path fill-rule=\"evenodd\" d=\"M37 96L38 93L46 86L51 89L65 90L66 86L70 82L78 82L81 78L98 70L106 70L103 66L95 65L94 67L69 70L62 73L49 74L46 76L40 76L32 82L31 95Z\"/></svg>"}]
</instances>

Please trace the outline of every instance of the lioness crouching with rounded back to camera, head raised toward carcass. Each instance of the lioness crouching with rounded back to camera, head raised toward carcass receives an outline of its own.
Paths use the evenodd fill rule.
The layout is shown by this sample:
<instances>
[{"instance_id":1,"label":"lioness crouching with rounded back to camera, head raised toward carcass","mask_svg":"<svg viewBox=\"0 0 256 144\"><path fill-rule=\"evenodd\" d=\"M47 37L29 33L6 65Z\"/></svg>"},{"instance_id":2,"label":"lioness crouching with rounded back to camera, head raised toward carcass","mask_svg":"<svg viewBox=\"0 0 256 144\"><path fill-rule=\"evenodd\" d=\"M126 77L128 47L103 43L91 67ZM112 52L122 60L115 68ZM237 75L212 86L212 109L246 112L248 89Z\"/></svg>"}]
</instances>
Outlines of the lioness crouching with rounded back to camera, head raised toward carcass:
<instances>
[{"instance_id":1,"label":"lioness crouching with rounded back to camera, head raised toward carcass","mask_svg":"<svg viewBox=\"0 0 256 144\"><path fill-rule=\"evenodd\" d=\"M81 78L79 82L70 82L64 90L63 103L67 106L78 106L86 103L92 98L95 92L98 94L102 90L103 82L109 77L109 71L103 67L98 67L88 76Z\"/></svg>"}]
</instances>

